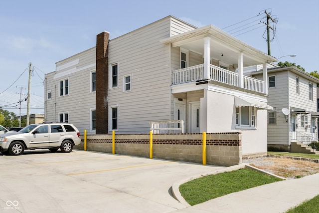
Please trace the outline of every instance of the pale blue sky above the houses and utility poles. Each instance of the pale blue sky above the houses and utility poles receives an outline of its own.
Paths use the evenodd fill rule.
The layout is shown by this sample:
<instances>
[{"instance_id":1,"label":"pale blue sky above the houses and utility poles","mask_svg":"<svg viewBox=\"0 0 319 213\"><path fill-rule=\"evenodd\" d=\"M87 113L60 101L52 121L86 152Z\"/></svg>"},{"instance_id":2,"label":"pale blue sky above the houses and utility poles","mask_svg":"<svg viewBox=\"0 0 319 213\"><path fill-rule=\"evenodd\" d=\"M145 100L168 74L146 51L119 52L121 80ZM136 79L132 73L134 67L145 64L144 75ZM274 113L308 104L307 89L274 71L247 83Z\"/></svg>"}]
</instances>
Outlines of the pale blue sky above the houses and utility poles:
<instances>
[{"instance_id":1,"label":"pale blue sky above the houses and utility poles","mask_svg":"<svg viewBox=\"0 0 319 213\"><path fill-rule=\"evenodd\" d=\"M319 0L1 1L0 106L19 115L18 102L23 99L21 115L26 114L26 69L31 62L34 71L30 113L44 113L44 73L55 71L55 62L94 47L100 32L110 32L112 39L167 15L197 27L213 24L221 29L255 17L235 25L243 29L249 21L257 23L264 10L278 18L271 55L279 58L296 54L297 57L283 57L280 61L299 64L307 72L319 71ZM257 16L259 13L262 15ZM267 53L262 25L229 33Z\"/></svg>"}]
</instances>

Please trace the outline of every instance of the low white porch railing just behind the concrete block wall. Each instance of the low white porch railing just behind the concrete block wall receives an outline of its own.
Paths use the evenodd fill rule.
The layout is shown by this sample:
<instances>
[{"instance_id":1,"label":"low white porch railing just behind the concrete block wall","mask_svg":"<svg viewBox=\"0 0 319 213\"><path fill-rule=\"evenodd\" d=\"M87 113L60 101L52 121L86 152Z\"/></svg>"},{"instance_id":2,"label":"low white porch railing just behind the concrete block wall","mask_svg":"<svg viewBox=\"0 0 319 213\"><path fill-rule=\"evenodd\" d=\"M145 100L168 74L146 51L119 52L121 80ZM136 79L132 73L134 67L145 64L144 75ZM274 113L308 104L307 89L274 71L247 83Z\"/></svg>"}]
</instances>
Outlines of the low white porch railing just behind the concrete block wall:
<instances>
[{"instance_id":1,"label":"low white porch railing just behind the concrete block wall","mask_svg":"<svg viewBox=\"0 0 319 213\"><path fill-rule=\"evenodd\" d=\"M154 134L164 133L184 133L184 121L183 120L162 120L162 121L150 121L151 128Z\"/></svg>"}]
</instances>

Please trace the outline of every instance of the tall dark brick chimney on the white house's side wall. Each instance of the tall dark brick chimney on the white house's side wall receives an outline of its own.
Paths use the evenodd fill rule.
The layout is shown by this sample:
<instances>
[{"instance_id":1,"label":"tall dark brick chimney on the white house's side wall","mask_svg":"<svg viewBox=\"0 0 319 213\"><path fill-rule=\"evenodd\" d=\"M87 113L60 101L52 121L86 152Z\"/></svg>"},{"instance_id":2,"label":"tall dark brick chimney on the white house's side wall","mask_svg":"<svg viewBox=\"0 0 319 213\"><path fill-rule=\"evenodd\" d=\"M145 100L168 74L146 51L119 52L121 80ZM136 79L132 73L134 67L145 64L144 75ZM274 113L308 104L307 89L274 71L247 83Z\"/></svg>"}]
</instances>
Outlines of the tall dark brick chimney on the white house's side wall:
<instances>
[{"instance_id":1,"label":"tall dark brick chimney on the white house's side wall","mask_svg":"<svg viewBox=\"0 0 319 213\"><path fill-rule=\"evenodd\" d=\"M109 32L96 36L96 134L108 134Z\"/></svg>"}]
</instances>

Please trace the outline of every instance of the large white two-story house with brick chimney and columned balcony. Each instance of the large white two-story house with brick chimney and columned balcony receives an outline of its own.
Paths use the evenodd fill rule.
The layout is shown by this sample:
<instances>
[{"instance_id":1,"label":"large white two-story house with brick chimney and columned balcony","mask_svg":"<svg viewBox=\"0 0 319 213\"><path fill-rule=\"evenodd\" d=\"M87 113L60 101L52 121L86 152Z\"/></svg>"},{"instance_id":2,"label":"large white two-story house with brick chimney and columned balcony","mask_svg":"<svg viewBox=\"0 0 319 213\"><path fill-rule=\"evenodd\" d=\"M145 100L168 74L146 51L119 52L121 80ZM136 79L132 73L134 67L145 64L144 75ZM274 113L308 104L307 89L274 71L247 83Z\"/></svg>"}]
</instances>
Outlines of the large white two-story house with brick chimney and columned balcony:
<instances>
[{"instance_id":1,"label":"large white two-story house with brick chimney and columned balcony","mask_svg":"<svg viewBox=\"0 0 319 213\"><path fill-rule=\"evenodd\" d=\"M183 120L184 132L241 132L243 155L267 152L267 68L262 80L243 68L267 67L274 57L173 16L109 36L98 34L96 47L46 74L46 121L88 134L135 134L149 133L150 121Z\"/></svg>"}]
</instances>

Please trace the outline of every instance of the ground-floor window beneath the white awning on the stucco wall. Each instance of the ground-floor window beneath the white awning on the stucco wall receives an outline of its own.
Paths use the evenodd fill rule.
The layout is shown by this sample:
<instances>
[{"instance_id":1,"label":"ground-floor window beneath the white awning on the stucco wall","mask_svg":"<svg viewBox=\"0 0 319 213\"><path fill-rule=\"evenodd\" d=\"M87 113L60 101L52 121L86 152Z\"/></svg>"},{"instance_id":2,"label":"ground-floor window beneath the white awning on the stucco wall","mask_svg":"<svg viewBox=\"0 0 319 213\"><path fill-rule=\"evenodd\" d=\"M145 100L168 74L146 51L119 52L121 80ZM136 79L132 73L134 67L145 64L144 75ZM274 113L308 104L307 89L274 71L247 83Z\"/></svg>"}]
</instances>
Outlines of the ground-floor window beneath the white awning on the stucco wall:
<instances>
[{"instance_id":1,"label":"ground-floor window beneath the white awning on the stucco wall","mask_svg":"<svg viewBox=\"0 0 319 213\"><path fill-rule=\"evenodd\" d=\"M242 127L256 126L255 107L236 107L236 125Z\"/></svg>"}]
</instances>

